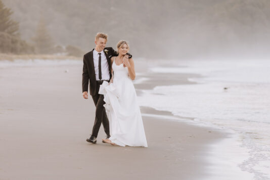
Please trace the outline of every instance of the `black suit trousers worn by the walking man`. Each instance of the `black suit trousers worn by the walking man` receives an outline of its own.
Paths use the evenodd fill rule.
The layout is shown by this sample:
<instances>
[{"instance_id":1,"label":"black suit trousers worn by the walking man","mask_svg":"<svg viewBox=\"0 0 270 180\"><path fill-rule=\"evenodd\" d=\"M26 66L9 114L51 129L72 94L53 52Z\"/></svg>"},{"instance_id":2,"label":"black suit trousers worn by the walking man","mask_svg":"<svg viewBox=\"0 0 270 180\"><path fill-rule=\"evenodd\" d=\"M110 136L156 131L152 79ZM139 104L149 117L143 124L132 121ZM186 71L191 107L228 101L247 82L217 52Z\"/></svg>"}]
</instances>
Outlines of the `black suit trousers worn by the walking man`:
<instances>
[{"instance_id":1,"label":"black suit trousers worn by the walking man","mask_svg":"<svg viewBox=\"0 0 270 180\"><path fill-rule=\"evenodd\" d=\"M103 124L105 133L107 136L110 136L110 126L109 126L109 120L106 114L106 110L104 108L104 96L98 94L100 85L102 83L97 82L97 94L95 96L92 96L95 106L96 106L96 117L95 117L95 123L92 130L92 136L98 137L98 133L100 130L101 123Z\"/></svg>"}]
</instances>

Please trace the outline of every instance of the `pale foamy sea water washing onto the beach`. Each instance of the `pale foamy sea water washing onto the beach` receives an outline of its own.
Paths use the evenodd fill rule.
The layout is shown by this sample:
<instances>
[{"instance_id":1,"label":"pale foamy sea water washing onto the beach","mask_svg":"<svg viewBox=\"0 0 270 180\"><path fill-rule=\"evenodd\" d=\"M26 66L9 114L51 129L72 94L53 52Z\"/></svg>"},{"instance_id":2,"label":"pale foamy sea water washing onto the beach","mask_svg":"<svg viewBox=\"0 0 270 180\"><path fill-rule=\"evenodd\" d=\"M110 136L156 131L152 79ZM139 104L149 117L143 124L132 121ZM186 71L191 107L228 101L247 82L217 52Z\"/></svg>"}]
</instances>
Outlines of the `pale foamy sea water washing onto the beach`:
<instances>
[{"instance_id":1,"label":"pale foamy sea water washing onto the beach","mask_svg":"<svg viewBox=\"0 0 270 180\"><path fill-rule=\"evenodd\" d=\"M197 73L201 77L189 79L195 84L144 90L139 97L140 105L230 132L233 140L220 142L212 152L213 164L227 163L219 169L219 175L223 173L224 178L218 179L238 179L242 172L244 179L270 179L270 60L173 61L171 64L172 67L151 67L150 72ZM222 160L221 156L227 159Z\"/></svg>"}]
</instances>

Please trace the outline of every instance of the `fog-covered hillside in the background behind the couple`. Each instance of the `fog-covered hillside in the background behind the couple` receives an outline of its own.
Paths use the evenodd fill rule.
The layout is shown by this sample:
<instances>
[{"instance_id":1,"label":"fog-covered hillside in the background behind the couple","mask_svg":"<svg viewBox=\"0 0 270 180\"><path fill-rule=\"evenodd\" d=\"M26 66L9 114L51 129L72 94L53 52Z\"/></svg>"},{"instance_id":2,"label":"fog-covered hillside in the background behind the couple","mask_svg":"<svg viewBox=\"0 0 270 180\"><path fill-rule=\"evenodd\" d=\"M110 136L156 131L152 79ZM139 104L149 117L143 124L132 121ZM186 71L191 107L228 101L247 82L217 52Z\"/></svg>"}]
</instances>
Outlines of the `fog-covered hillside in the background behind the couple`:
<instances>
[{"instance_id":1,"label":"fog-covered hillside in the background behind the couple","mask_svg":"<svg viewBox=\"0 0 270 180\"><path fill-rule=\"evenodd\" d=\"M44 19L55 46L84 53L97 32L107 46L125 39L136 57L158 59L268 58L270 2L267 0L82 1L2 0L31 42Z\"/></svg>"}]
</instances>

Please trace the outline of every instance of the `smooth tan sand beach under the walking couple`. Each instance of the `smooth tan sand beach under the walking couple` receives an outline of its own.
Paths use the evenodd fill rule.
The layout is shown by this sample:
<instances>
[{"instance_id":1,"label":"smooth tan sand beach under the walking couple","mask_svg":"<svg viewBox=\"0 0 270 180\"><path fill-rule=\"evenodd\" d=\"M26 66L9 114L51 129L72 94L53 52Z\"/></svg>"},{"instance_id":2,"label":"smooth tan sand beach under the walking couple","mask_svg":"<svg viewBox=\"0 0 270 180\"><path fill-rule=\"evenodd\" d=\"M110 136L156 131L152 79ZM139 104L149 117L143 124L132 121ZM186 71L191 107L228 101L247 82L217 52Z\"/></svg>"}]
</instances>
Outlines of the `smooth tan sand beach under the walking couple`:
<instances>
[{"instance_id":1,"label":"smooth tan sand beach under the walking couple","mask_svg":"<svg viewBox=\"0 0 270 180\"><path fill-rule=\"evenodd\" d=\"M136 69L145 70L141 65ZM81 72L80 64L0 67L0 179L202 179L211 175L207 171L210 145L227 134L170 120L172 115L166 111L141 107L143 114L157 115L143 116L148 148L104 144L103 127L98 143L87 143L95 106L91 98L82 98ZM153 83L139 86L153 88Z\"/></svg>"}]
</instances>

